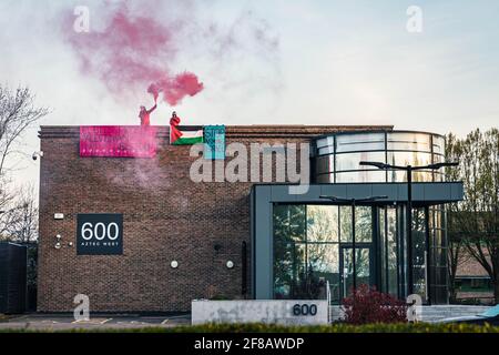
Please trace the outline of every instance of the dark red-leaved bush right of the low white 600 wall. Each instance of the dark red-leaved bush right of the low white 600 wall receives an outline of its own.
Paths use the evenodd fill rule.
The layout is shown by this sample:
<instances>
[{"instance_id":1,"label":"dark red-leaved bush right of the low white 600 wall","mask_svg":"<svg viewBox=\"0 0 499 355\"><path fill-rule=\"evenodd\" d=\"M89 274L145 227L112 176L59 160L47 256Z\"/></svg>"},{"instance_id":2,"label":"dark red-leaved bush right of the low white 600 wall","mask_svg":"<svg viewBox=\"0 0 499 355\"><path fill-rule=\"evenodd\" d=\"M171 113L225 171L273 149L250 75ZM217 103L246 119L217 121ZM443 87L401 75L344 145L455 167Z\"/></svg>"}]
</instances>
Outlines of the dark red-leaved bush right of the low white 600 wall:
<instances>
[{"instance_id":1,"label":"dark red-leaved bush right of the low white 600 wall","mask_svg":"<svg viewBox=\"0 0 499 355\"><path fill-rule=\"evenodd\" d=\"M404 301L360 285L349 297L343 300L344 321L348 324L407 322L407 305Z\"/></svg>"}]
</instances>

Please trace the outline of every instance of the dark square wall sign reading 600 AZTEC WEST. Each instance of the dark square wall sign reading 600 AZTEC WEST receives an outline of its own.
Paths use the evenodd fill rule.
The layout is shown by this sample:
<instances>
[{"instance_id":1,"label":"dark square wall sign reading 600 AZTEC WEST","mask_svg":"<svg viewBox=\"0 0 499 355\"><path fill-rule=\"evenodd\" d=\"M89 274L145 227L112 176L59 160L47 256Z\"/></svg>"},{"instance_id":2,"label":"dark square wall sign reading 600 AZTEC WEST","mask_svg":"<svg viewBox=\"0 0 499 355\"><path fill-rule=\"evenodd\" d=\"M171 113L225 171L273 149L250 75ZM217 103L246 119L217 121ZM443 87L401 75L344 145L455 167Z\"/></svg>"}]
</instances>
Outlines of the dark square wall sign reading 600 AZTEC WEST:
<instances>
[{"instance_id":1,"label":"dark square wall sign reading 600 AZTEC WEST","mask_svg":"<svg viewBox=\"0 0 499 355\"><path fill-rule=\"evenodd\" d=\"M79 214L78 255L123 254L123 214Z\"/></svg>"}]
</instances>

